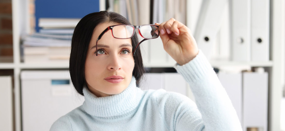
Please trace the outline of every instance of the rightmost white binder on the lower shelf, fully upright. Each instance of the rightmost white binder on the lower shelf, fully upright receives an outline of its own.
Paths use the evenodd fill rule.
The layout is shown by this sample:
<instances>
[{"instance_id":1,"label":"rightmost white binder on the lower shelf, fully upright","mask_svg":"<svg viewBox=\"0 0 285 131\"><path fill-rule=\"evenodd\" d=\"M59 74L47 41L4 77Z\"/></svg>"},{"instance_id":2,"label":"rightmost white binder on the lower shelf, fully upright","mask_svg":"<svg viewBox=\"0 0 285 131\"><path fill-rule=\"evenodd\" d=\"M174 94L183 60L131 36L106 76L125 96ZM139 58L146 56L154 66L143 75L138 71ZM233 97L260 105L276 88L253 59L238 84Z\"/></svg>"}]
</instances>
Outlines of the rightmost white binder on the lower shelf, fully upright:
<instances>
[{"instance_id":1,"label":"rightmost white binder on the lower shelf, fully upright","mask_svg":"<svg viewBox=\"0 0 285 131\"><path fill-rule=\"evenodd\" d=\"M243 130L267 131L268 73L243 73Z\"/></svg>"}]
</instances>

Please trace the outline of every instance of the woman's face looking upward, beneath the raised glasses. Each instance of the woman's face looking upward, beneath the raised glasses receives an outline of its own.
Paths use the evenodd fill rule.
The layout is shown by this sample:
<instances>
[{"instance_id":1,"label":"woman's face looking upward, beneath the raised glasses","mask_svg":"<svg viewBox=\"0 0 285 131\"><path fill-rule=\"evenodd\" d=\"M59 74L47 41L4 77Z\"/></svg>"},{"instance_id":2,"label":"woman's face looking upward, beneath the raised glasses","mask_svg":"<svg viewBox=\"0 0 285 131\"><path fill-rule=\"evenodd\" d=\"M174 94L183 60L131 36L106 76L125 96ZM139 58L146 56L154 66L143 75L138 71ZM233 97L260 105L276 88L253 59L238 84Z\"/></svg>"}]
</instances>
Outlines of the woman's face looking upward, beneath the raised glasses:
<instances>
[{"instance_id":1,"label":"woman's face looking upward, beneath the raised glasses","mask_svg":"<svg viewBox=\"0 0 285 131\"><path fill-rule=\"evenodd\" d=\"M131 82L135 66L131 52L131 38L114 38L111 30L98 40L98 56L96 56L96 40L111 25L117 24L102 23L97 25L86 56L85 78L87 87L97 97L110 96L124 91Z\"/></svg>"}]
</instances>

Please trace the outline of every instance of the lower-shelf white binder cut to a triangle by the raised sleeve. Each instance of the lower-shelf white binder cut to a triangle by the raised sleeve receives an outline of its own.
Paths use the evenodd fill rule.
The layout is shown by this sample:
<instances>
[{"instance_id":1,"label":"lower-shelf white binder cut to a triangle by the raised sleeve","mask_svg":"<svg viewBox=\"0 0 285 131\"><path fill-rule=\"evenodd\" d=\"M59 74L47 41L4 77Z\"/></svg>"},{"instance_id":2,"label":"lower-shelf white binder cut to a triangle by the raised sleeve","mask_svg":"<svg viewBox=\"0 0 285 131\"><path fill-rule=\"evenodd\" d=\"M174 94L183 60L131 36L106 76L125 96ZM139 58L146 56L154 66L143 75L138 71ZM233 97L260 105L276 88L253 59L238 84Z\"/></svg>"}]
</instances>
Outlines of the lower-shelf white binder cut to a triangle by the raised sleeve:
<instances>
[{"instance_id":1,"label":"lower-shelf white binder cut to a triangle by the raised sleeve","mask_svg":"<svg viewBox=\"0 0 285 131\"><path fill-rule=\"evenodd\" d=\"M219 72L219 80L225 88L233 107L237 111L239 121L242 123L242 75L241 73L223 73Z\"/></svg>"}]
</instances>

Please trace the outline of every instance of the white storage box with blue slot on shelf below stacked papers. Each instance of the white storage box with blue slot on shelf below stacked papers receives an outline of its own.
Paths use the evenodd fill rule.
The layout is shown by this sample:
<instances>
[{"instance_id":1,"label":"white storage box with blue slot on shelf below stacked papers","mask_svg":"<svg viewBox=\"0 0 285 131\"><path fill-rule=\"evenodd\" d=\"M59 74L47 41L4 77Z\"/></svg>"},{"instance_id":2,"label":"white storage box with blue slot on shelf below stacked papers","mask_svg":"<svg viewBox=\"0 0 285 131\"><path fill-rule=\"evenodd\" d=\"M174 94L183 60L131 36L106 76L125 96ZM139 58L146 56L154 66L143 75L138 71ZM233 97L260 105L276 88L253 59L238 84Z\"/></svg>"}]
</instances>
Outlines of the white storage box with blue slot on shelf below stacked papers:
<instances>
[{"instance_id":1,"label":"white storage box with blue slot on shelf below stacked papers","mask_svg":"<svg viewBox=\"0 0 285 131\"><path fill-rule=\"evenodd\" d=\"M21 72L23 131L49 130L61 116L81 106L68 70Z\"/></svg>"}]
</instances>

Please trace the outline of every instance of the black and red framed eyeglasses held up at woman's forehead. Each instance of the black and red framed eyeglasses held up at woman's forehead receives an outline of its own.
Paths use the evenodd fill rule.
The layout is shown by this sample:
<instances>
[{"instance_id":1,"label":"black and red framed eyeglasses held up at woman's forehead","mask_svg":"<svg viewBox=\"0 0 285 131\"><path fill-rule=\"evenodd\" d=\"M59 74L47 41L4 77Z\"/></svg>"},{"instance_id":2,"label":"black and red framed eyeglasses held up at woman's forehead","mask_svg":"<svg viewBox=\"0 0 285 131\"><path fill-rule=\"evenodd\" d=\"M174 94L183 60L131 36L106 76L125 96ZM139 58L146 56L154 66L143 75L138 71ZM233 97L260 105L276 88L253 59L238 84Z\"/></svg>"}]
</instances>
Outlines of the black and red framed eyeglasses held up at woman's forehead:
<instances>
[{"instance_id":1,"label":"black and red framed eyeglasses held up at woman's forehead","mask_svg":"<svg viewBox=\"0 0 285 131\"><path fill-rule=\"evenodd\" d=\"M98 40L101 39L101 37L104 35L104 33L106 33L107 31L111 30L112 31L112 35L114 38L118 38L118 39L128 39L133 37L133 35L135 34L135 30L139 29L139 34L144 38L141 42L139 42L139 44L137 45L137 47L139 47L139 45L144 42L145 40L148 39L154 39L157 38L159 36L159 30L158 30L158 26L157 25L153 25L153 24L148 24L148 25L140 25L140 26L133 26L133 25L113 25L113 26L109 26L107 27L97 38L96 40L96 56L98 55L97 52L97 42ZM135 56L135 53L137 51L137 47L135 48L134 52L133 52L133 56Z\"/></svg>"}]
</instances>

